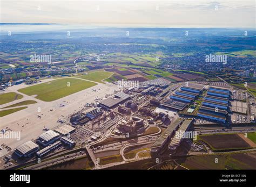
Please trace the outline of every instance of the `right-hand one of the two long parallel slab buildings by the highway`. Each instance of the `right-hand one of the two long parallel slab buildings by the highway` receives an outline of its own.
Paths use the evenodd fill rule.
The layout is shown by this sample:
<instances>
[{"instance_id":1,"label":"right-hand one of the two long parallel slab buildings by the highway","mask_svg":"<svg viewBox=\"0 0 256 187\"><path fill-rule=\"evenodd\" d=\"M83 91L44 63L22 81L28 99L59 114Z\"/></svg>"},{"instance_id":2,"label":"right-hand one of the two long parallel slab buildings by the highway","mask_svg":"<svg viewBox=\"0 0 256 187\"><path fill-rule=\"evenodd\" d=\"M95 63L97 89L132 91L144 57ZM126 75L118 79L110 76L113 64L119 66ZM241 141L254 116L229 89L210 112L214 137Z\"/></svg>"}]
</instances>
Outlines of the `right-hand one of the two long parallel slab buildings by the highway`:
<instances>
[{"instance_id":1,"label":"right-hand one of the two long parallel slab buildings by the highway","mask_svg":"<svg viewBox=\"0 0 256 187\"><path fill-rule=\"evenodd\" d=\"M192 119L185 119L178 129L179 135L174 135L173 139L169 143L169 150L172 154L176 153L181 141L183 140L184 133L190 128L192 124ZM191 137L192 138L192 137Z\"/></svg>"}]
</instances>

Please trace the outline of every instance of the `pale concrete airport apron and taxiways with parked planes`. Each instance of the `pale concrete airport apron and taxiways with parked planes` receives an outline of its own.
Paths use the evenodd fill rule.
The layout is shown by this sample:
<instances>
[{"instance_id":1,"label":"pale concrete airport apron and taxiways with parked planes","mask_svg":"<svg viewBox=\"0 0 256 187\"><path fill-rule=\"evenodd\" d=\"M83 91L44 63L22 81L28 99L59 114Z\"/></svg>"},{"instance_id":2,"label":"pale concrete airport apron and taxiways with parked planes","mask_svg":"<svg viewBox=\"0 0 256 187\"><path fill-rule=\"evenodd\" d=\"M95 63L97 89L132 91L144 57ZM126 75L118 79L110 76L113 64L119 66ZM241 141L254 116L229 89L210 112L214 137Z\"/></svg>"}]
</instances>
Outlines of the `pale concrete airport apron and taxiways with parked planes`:
<instances>
[{"instance_id":1,"label":"pale concrete airport apron and taxiways with parked planes","mask_svg":"<svg viewBox=\"0 0 256 187\"><path fill-rule=\"evenodd\" d=\"M52 78L42 80L41 83L49 82L52 80ZM22 99L15 100L14 102L0 105L0 108L19 103L23 100L37 101L36 104L28 105L27 109L9 114L1 118L0 130L8 127L12 131L21 132L21 140L19 141L16 139L1 139L1 144L5 143L5 145L8 145L12 149L15 149L17 146L26 141L36 139L40 134L43 133L44 126L50 129L57 126L62 126L63 124L57 123L57 120L69 116L72 113L76 113L82 109L86 103L94 102L96 96L104 97L106 93L113 93L113 91L117 89L116 85L113 84L97 83L97 85L94 87L73 93L72 95L54 100L52 102L43 102L42 100L36 99L35 96L27 96L17 91L28 86L29 85L25 84L14 85L7 88L3 92L6 93L13 91L23 95L24 97ZM92 91L92 89L97 90L97 92ZM65 106L60 107L61 103L65 104ZM41 112L38 112L38 107L41 108ZM38 115L40 115L41 118L38 118ZM5 154L8 154L6 149L0 150L0 157L4 156Z\"/></svg>"}]
</instances>

